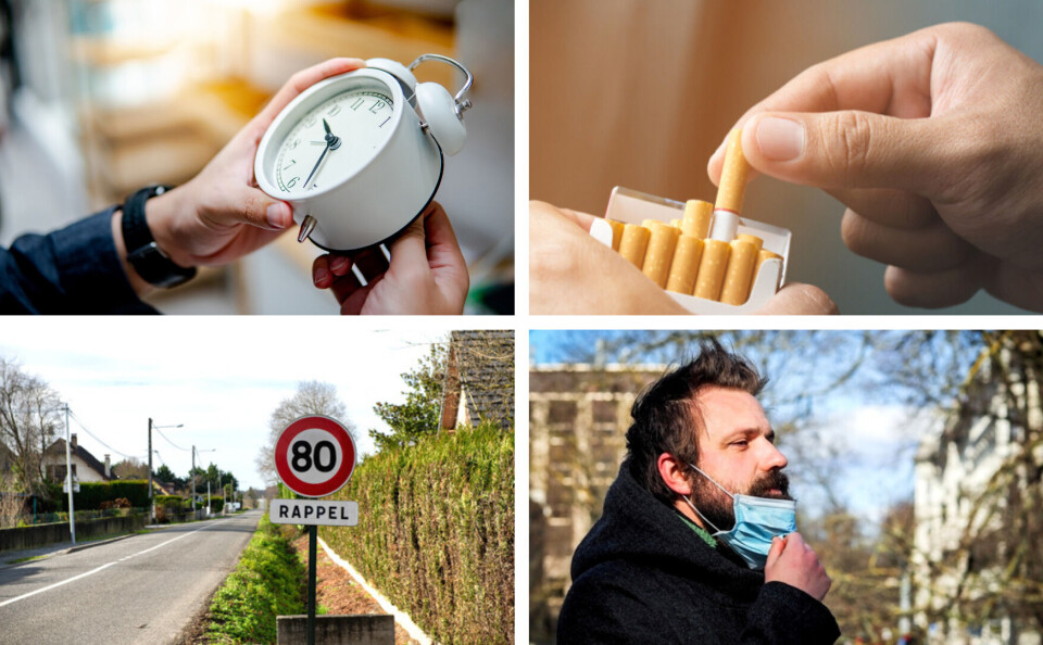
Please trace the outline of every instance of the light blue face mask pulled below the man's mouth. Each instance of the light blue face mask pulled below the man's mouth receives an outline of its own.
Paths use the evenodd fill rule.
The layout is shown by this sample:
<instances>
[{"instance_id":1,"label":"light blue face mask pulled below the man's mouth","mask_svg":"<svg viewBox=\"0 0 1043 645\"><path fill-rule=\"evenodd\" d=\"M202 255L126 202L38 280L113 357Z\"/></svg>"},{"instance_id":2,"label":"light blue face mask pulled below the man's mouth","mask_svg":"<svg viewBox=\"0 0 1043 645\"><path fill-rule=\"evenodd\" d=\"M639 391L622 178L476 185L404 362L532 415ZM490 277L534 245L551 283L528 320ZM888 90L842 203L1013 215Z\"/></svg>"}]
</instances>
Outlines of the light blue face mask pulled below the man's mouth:
<instances>
[{"instance_id":1,"label":"light blue face mask pulled below the man's mouth","mask_svg":"<svg viewBox=\"0 0 1043 645\"><path fill-rule=\"evenodd\" d=\"M732 498L732 508L736 514L736 526L730 531L721 531L706 519L695 508L688 497L688 502L704 522L717 531L714 538L728 545L728 548L739 554L751 569L764 569L768 561L768 551L771 549L772 538L783 538L796 532L796 502L792 499L770 499L767 497L751 497L750 495L732 495L712 477L689 464L696 472L708 479L715 486Z\"/></svg>"}]
</instances>

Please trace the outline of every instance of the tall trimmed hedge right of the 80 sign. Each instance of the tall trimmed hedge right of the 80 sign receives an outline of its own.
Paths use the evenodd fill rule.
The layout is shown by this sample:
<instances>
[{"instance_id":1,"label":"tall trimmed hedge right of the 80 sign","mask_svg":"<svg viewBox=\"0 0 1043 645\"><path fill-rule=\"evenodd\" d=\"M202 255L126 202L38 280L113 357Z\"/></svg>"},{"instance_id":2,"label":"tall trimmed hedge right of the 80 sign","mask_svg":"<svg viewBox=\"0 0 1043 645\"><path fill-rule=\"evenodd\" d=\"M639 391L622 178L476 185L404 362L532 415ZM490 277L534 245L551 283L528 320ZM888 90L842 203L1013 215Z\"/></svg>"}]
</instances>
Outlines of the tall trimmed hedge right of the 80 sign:
<instances>
[{"instance_id":1,"label":"tall trimmed hedge right of the 80 sign","mask_svg":"<svg viewBox=\"0 0 1043 645\"><path fill-rule=\"evenodd\" d=\"M514 642L514 433L436 434L367 457L323 539L440 643Z\"/></svg>"}]
</instances>

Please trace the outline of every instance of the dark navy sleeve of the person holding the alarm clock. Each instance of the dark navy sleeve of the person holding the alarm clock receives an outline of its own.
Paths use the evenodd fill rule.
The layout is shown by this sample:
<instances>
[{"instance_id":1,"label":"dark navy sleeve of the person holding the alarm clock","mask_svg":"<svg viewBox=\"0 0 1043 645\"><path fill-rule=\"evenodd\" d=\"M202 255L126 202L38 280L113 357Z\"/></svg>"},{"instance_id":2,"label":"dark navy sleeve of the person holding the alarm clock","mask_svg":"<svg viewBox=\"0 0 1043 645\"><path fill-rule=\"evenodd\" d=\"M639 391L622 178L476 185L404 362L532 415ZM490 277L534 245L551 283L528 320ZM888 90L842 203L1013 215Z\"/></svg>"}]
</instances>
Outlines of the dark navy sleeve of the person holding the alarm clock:
<instances>
[{"instance_id":1,"label":"dark navy sleeve of the person holding the alarm clock","mask_svg":"<svg viewBox=\"0 0 1043 645\"><path fill-rule=\"evenodd\" d=\"M112 239L115 206L0 249L0 313L155 314L123 270Z\"/></svg>"}]
</instances>

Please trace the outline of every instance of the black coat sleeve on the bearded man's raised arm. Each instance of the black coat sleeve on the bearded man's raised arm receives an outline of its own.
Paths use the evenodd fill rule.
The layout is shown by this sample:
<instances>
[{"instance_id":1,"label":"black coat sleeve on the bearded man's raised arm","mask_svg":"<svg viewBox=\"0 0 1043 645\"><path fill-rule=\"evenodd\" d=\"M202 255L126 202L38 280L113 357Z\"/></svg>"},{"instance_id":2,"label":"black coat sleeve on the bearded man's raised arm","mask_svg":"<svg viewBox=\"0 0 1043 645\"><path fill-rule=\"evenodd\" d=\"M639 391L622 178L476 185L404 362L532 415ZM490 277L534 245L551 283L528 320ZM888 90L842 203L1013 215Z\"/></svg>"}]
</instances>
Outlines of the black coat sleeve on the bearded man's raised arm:
<instances>
[{"instance_id":1,"label":"black coat sleeve on the bearded man's raised arm","mask_svg":"<svg viewBox=\"0 0 1043 645\"><path fill-rule=\"evenodd\" d=\"M840 637L837 619L812 596L783 582L768 582L750 609L742 643L831 644Z\"/></svg>"}]
</instances>

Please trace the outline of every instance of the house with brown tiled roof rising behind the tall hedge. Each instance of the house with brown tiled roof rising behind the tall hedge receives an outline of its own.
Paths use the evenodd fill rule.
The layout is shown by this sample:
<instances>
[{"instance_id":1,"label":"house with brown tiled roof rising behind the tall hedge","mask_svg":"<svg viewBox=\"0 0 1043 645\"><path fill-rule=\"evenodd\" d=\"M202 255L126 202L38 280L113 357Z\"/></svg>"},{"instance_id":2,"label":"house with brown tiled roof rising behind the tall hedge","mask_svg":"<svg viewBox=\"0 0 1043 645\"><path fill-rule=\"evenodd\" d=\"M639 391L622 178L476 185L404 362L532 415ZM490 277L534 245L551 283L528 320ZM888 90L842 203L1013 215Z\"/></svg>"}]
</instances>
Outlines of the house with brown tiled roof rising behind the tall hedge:
<instances>
[{"instance_id":1,"label":"house with brown tiled roof rising behind the tall hedge","mask_svg":"<svg viewBox=\"0 0 1043 645\"><path fill-rule=\"evenodd\" d=\"M444 379L441 429L514 427L514 331L453 331Z\"/></svg>"}]
</instances>

